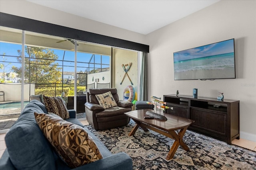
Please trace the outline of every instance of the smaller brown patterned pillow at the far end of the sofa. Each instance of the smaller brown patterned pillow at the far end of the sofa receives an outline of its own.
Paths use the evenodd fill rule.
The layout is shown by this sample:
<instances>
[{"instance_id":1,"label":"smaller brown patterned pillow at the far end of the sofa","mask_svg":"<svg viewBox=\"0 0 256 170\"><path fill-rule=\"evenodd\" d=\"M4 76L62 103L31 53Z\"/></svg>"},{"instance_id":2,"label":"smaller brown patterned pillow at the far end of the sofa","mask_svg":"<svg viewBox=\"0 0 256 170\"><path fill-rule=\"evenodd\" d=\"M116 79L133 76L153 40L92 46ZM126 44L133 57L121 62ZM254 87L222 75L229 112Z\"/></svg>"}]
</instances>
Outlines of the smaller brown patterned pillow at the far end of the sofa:
<instances>
[{"instance_id":1,"label":"smaller brown patterned pillow at the far end of the sofa","mask_svg":"<svg viewBox=\"0 0 256 170\"><path fill-rule=\"evenodd\" d=\"M48 112L60 116L62 119L69 119L68 109L61 97L44 96L44 105Z\"/></svg>"}]
</instances>

